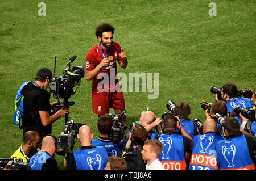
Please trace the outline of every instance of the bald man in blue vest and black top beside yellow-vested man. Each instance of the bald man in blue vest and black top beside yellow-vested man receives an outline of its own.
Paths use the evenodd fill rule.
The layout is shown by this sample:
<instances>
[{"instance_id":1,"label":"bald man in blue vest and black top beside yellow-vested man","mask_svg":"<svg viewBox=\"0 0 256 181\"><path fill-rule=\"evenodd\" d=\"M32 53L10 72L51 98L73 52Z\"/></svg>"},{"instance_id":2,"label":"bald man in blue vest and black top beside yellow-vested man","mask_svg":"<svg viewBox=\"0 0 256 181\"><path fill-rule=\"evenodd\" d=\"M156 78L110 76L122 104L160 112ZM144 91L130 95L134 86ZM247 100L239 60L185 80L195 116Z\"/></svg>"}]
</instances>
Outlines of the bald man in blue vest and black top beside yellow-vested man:
<instances>
[{"instance_id":1,"label":"bald man in blue vest and black top beside yellow-vested man","mask_svg":"<svg viewBox=\"0 0 256 181\"><path fill-rule=\"evenodd\" d=\"M28 161L31 170L59 170L57 161L54 158L56 145L56 137L49 134L44 136L42 139L41 150Z\"/></svg>"}]
</instances>

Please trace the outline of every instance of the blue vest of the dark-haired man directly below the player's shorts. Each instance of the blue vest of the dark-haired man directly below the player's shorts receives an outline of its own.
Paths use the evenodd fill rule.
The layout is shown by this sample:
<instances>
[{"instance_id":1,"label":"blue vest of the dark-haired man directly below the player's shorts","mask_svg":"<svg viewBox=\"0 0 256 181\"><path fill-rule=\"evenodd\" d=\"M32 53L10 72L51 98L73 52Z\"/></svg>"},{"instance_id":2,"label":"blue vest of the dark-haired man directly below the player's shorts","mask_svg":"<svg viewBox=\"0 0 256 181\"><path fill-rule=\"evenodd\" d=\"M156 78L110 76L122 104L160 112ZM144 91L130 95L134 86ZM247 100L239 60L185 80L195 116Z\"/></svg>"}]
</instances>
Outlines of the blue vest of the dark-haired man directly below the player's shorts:
<instances>
[{"instance_id":1,"label":"blue vest of the dark-haired man directly below the player's shorts","mask_svg":"<svg viewBox=\"0 0 256 181\"><path fill-rule=\"evenodd\" d=\"M101 137L98 139L92 140L93 146L103 146L108 151L109 156L117 157L120 153L123 147L125 147L126 142L123 141L119 144L113 144L113 142L110 140L109 137L107 139L101 140Z\"/></svg>"}]
</instances>

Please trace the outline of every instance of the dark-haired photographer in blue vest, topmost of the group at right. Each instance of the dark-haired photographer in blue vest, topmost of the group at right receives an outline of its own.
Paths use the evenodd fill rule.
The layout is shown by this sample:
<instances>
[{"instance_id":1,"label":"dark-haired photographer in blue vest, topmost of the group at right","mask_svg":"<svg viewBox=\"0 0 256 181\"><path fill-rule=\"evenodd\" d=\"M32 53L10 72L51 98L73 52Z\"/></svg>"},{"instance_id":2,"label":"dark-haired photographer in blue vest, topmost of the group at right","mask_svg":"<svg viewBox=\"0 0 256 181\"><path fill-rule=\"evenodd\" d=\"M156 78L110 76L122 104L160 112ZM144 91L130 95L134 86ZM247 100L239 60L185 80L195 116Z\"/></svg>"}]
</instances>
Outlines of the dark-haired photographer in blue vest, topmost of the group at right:
<instances>
[{"instance_id":1,"label":"dark-haired photographer in blue vest, topmost of the group at right","mask_svg":"<svg viewBox=\"0 0 256 181\"><path fill-rule=\"evenodd\" d=\"M221 90L221 98L226 102L226 107L229 112L232 112L235 106L241 106L246 109L253 108L253 101L249 98L242 98L241 91L238 91L237 86L233 83L226 83ZM216 94L216 100L218 96Z\"/></svg>"}]
</instances>

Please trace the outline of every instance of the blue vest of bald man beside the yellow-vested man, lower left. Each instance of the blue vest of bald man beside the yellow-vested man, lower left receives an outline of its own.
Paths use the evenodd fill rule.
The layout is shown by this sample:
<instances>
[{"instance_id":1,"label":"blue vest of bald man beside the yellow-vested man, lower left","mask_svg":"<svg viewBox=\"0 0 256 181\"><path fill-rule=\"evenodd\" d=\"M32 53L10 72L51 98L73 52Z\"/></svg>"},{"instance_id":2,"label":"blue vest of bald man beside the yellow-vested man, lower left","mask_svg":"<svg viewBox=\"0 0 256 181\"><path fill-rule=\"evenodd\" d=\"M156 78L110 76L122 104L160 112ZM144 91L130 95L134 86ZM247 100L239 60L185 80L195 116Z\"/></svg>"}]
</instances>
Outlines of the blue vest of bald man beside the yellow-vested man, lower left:
<instances>
[{"instance_id":1,"label":"blue vest of bald man beside the yellow-vested man, lower left","mask_svg":"<svg viewBox=\"0 0 256 181\"><path fill-rule=\"evenodd\" d=\"M42 166L46 163L47 159L51 158L46 151L38 151L33 157L30 158L28 165L31 166L31 170L42 170Z\"/></svg>"}]
</instances>

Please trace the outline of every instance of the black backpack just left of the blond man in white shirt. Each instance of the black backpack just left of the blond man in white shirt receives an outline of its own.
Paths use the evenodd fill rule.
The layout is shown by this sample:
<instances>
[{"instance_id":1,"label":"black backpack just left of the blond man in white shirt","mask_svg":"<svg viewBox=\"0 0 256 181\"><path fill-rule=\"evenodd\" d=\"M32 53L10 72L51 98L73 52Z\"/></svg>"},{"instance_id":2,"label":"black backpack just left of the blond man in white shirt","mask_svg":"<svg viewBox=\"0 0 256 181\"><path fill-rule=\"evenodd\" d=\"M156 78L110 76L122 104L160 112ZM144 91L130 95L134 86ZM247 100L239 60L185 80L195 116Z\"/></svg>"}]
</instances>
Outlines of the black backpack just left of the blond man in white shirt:
<instances>
[{"instance_id":1,"label":"black backpack just left of the blond man in white shirt","mask_svg":"<svg viewBox=\"0 0 256 181\"><path fill-rule=\"evenodd\" d=\"M125 159L127 163L127 170L146 170L141 150L134 151L133 148L128 148L126 151L123 151L122 158Z\"/></svg>"}]
</instances>

